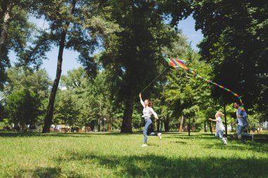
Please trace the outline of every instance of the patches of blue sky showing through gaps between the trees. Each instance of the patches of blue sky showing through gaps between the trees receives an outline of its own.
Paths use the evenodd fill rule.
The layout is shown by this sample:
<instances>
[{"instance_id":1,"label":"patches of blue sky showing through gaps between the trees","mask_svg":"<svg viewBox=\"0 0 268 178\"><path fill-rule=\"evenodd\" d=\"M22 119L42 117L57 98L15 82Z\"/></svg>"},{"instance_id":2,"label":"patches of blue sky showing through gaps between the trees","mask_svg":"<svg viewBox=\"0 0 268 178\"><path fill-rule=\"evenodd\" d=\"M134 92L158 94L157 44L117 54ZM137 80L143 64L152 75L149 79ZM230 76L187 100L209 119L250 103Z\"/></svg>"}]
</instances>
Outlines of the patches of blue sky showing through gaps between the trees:
<instances>
[{"instance_id":1,"label":"patches of blue sky showing through gaps between the trees","mask_svg":"<svg viewBox=\"0 0 268 178\"><path fill-rule=\"evenodd\" d=\"M32 23L35 23L38 27L48 27L47 23L44 22L44 20L37 20L36 18L30 17L30 21ZM189 16L185 20L181 20L180 23L178 23L178 28L182 30L183 34L188 39L188 42L191 42L191 46L193 49L198 51L197 44L202 40L203 35L200 30L195 31L195 20L192 16ZM47 53L47 58L49 60L43 61L42 67L45 68L51 77L52 80L54 80L56 76L56 63L57 63L57 56L58 56L58 48L54 48L51 51ZM16 61L16 56L14 53L10 53L9 57L12 61ZM72 70L74 68L80 67L80 63L77 61L78 53L75 51L69 51L65 50L63 52L63 63L62 63L62 75L66 75L68 70Z\"/></svg>"}]
</instances>

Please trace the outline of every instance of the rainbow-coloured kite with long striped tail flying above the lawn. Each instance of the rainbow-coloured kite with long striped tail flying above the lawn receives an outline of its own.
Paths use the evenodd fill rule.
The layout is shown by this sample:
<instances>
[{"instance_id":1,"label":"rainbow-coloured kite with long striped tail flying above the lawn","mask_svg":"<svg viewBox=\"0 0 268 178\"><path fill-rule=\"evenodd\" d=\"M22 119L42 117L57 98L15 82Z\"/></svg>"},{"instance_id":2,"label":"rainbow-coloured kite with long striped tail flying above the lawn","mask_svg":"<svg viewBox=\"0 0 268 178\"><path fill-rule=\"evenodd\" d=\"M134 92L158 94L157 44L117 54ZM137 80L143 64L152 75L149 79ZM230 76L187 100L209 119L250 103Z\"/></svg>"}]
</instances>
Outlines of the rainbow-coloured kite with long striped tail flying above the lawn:
<instances>
[{"instance_id":1,"label":"rainbow-coloured kite with long striped tail flying above the lawn","mask_svg":"<svg viewBox=\"0 0 268 178\"><path fill-rule=\"evenodd\" d=\"M166 58L166 61L169 63L169 66L171 66L173 68L187 70L188 72L193 73L193 75L195 75L196 77L199 77L200 79L205 80L208 83L214 84L214 85L216 85L217 87L219 87L221 89L224 89L226 91L229 91L231 94L233 94L234 96L236 96L239 99L241 109L242 110L245 110L244 109L243 101L241 99L241 96L239 96L235 92L231 91L231 89L227 89L226 87L223 87L223 86L221 86L221 85L219 85L219 84L217 84L217 83L215 83L215 82L213 82L211 80L207 80L206 78L202 77L201 75L198 75L196 73L196 70L191 70L190 68L187 68L185 66L185 61L181 61L181 60L177 60L177 59L172 59L172 58Z\"/></svg>"}]
</instances>

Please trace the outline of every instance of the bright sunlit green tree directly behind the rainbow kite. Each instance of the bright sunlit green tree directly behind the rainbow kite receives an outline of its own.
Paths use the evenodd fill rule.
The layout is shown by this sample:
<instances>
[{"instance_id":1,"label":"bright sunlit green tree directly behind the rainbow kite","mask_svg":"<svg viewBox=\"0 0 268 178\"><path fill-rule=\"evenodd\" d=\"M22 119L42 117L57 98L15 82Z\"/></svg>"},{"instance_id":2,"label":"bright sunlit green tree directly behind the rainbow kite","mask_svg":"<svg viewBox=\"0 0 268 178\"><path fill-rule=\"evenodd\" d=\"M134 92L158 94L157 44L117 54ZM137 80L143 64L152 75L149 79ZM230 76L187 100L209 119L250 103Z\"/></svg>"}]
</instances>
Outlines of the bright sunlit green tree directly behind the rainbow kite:
<instances>
[{"instance_id":1,"label":"bright sunlit green tree directly behind the rainbow kite","mask_svg":"<svg viewBox=\"0 0 268 178\"><path fill-rule=\"evenodd\" d=\"M179 45L183 44L182 42L183 40L178 41L177 44L172 45L173 48L165 49L166 57L186 59L186 66L196 70L197 74L203 77L212 78L211 66L204 61L199 61L200 56L193 49L190 49L187 44ZM176 51L179 51L179 53L176 53ZM181 131L184 123L187 122L186 119L188 121L193 119L195 123L206 122L211 117L211 115L205 115L206 110L208 108L213 108L213 112L217 110L217 105L213 104L214 101L212 101L210 91L214 86L185 70L171 68L159 87L162 88L162 91L157 92L162 93L160 108L162 115L165 116L165 129L169 129L169 122L172 122L175 126L179 122ZM180 117L181 120L179 120ZM188 130L190 130L189 125Z\"/></svg>"}]
</instances>

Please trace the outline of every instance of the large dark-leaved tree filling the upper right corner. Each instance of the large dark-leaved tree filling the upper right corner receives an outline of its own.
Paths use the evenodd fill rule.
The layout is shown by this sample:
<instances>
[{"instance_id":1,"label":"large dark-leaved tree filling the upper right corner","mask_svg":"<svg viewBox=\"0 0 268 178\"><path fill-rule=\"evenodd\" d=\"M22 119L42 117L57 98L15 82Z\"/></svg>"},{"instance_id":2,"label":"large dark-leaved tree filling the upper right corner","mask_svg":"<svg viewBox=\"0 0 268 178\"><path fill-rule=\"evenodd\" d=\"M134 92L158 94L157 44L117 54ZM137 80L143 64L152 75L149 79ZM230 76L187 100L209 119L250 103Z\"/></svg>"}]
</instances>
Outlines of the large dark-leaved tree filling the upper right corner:
<instances>
[{"instance_id":1,"label":"large dark-leaved tree filling the upper right corner","mask_svg":"<svg viewBox=\"0 0 268 178\"><path fill-rule=\"evenodd\" d=\"M245 108L267 111L267 7L266 1L193 1L202 59L211 63L214 81L243 96ZM214 89L221 103L236 98ZM264 112L265 112L264 111Z\"/></svg>"}]
</instances>

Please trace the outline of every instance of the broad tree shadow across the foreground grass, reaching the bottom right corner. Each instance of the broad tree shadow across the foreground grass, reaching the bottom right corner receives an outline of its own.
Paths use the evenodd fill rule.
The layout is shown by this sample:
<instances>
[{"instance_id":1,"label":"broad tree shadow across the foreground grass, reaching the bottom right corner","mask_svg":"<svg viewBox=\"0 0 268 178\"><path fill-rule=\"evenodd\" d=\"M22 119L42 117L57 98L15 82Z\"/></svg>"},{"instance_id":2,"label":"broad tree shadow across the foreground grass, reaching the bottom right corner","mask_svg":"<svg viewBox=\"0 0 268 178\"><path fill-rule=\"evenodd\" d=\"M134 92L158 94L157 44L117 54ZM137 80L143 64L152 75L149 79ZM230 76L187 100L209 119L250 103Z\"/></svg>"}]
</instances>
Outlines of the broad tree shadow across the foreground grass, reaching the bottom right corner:
<instances>
[{"instance_id":1,"label":"broad tree shadow across the foreground grass, reaching the bottom right corner","mask_svg":"<svg viewBox=\"0 0 268 178\"><path fill-rule=\"evenodd\" d=\"M70 160L94 160L116 177L267 177L268 158L166 158L160 155L74 153ZM58 161L68 161L66 158ZM99 175L102 177L102 175Z\"/></svg>"}]
</instances>

